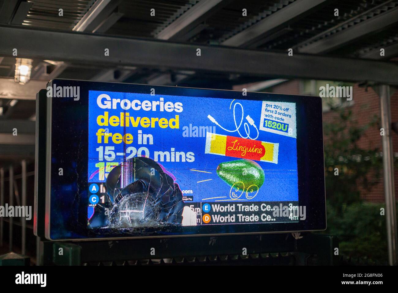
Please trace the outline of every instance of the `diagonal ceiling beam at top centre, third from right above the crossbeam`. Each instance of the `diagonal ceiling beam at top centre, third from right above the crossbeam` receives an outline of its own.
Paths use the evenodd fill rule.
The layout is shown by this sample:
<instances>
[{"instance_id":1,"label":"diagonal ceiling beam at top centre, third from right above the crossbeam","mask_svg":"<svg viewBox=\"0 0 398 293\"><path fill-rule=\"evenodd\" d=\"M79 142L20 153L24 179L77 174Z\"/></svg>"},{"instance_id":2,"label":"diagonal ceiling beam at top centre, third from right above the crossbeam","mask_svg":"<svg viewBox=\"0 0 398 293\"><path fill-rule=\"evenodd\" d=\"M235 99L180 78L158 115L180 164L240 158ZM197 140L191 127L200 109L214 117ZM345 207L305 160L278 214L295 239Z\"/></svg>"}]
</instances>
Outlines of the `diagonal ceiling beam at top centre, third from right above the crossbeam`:
<instances>
[{"instance_id":1,"label":"diagonal ceiling beam at top centre, third from right above the crossbeam","mask_svg":"<svg viewBox=\"0 0 398 293\"><path fill-rule=\"evenodd\" d=\"M228 5L231 0L201 0L179 16L156 35L157 39L176 40L189 33L201 22L205 21L219 9Z\"/></svg>"}]
</instances>

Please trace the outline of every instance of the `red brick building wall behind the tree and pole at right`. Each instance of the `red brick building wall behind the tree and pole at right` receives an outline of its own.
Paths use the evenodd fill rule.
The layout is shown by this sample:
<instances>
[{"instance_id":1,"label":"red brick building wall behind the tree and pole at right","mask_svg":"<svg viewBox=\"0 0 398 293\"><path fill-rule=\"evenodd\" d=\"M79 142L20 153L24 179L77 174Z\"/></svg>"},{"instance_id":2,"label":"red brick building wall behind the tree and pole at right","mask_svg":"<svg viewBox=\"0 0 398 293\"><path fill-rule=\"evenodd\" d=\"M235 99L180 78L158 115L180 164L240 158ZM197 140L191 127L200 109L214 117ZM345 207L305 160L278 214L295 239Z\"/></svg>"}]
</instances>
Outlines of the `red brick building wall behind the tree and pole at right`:
<instances>
[{"instance_id":1,"label":"red brick building wall behind the tree and pole at right","mask_svg":"<svg viewBox=\"0 0 398 293\"><path fill-rule=\"evenodd\" d=\"M279 94L300 94L302 92L300 81L291 80L285 83L276 85L264 91L274 92ZM359 126L368 124L374 116L377 116L380 121L380 100L373 88L362 88L357 84L353 85L353 104L349 106L353 112L353 122ZM324 122L332 120L333 112L324 112ZM391 120L392 122L398 121L398 91L391 97ZM363 149L378 148L382 151L382 142L380 136L380 123L376 126L370 127L366 130L364 135L358 142L359 147ZM328 138L325 137L325 140ZM392 132L392 145L394 153L398 153L398 134ZM370 174L369 176L373 176ZM367 201L382 202L384 201L384 186L382 179L382 172L380 178L376 180L376 185L371 190L365 190L361 187L361 196ZM371 178L374 180L374 178ZM394 171L395 183L395 197L398 199L398 168L395 166Z\"/></svg>"}]
</instances>

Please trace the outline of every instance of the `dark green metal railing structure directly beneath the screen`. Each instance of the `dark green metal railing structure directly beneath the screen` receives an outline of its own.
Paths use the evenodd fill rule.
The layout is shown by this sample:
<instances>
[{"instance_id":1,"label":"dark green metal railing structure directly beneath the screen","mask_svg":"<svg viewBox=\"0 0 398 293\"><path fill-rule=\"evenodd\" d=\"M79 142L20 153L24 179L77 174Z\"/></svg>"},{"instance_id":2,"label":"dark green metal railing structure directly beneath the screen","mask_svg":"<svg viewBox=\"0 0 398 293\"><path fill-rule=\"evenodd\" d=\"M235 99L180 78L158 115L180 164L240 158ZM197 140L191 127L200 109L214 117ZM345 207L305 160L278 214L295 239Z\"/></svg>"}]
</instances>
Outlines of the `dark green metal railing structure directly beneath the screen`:
<instances>
[{"instance_id":1,"label":"dark green metal railing structure directly beneath the screen","mask_svg":"<svg viewBox=\"0 0 398 293\"><path fill-rule=\"evenodd\" d=\"M338 239L306 233L40 241L39 265L337 265Z\"/></svg>"}]
</instances>

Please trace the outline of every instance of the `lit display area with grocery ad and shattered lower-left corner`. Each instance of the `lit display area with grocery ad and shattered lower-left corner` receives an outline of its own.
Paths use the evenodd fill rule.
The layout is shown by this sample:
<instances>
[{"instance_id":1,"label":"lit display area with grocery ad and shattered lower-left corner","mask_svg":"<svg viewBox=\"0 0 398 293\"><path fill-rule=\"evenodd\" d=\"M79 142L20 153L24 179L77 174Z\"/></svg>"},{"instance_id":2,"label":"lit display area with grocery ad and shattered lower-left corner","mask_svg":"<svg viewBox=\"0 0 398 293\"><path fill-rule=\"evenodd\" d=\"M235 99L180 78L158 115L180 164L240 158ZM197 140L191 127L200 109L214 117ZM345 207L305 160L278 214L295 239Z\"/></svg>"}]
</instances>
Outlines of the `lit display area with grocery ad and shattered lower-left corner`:
<instances>
[{"instance_id":1,"label":"lit display area with grocery ad and shattered lower-left corner","mask_svg":"<svg viewBox=\"0 0 398 293\"><path fill-rule=\"evenodd\" d=\"M89 228L298 222L293 102L90 90L88 127Z\"/></svg>"}]
</instances>

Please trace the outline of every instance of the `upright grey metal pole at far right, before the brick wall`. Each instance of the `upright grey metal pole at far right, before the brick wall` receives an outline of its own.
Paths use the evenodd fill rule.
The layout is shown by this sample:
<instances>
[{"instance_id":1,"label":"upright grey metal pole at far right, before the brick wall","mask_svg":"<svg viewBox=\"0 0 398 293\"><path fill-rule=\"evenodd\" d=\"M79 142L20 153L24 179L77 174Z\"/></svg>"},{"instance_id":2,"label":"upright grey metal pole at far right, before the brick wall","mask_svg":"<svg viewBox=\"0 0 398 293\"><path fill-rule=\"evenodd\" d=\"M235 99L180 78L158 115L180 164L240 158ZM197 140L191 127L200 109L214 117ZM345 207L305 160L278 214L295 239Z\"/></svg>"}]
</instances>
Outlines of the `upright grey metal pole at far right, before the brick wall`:
<instances>
[{"instance_id":1,"label":"upright grey metal pole at far right, before the brick wall","mask_svg":"<svg viewBox=\"0 0 398 293\"><path fill-rule=\"evenodd\" d=\"M381 127L384 128L384 136L381 138L383 146L383 177L384 196L386 200L388 262L390 265L395 265L397 262L397 234L394 192L394 161L391 136L390 86L380 86L379 96Z\"/></svg>"}]
</instances>

